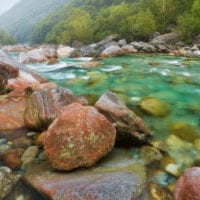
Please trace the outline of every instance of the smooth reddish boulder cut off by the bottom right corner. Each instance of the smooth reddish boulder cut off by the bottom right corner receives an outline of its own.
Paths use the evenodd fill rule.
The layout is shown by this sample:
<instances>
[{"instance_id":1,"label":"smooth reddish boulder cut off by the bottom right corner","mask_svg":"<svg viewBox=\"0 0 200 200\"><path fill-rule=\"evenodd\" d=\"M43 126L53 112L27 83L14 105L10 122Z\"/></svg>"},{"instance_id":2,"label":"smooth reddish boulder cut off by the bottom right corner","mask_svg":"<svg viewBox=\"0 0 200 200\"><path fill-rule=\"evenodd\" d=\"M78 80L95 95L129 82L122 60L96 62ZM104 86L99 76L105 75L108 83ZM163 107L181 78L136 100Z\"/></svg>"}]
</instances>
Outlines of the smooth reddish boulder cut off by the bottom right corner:
<instances>
[{"instance_id":1,"label":"smooth reddish boulder cut off by the bottom right corner","mask_svg":"<svg viewBox=\"0 0 200 200\"><path fill-rule=\"evenodd\" d=\"M200 199L200 167L192 167L184 172L178 179L174 200L199 200Z\"/></svg>"}]
</instances>

